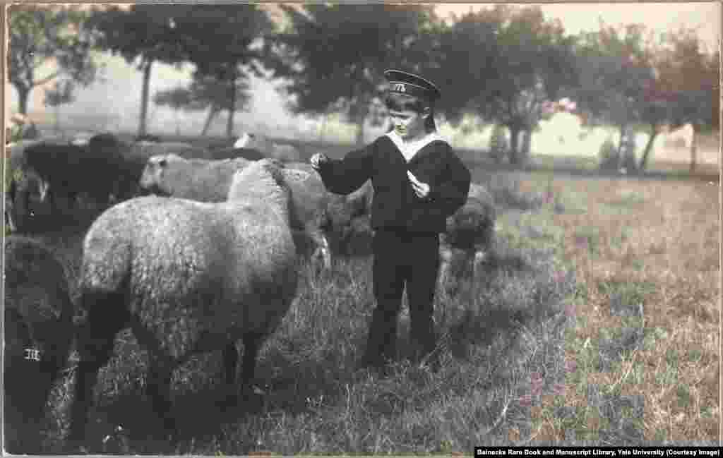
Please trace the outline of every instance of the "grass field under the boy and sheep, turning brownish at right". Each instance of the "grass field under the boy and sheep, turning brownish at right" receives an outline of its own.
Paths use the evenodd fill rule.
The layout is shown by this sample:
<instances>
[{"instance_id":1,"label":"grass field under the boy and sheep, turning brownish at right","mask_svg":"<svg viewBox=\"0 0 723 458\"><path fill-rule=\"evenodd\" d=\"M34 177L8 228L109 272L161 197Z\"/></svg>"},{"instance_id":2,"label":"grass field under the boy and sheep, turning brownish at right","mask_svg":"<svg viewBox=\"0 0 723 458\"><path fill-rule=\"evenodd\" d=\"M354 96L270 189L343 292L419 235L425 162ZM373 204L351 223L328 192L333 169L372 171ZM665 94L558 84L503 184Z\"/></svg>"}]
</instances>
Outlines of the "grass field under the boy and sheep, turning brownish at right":
<instances>
[{"instance_id":1,"label":"grass field under the boy and sheep, turning brownish at right","mask_svg":"<svg viewBox=\"0 0 723 458\"><path fill-rule=\"evenodd\" d=\"M149 437L158 425L143 397L145 353L124 332L100 373L91 451L470 454L479 445L718 441L718 182L554 164L493 170L470 154L474 181L500 207L497 240L479 278L437 297L438 373L406 363L406 311L388 376L354 371L374 306L370 259L339 259L320 274L300 262L299 296L260 355L260 404L219 412L220 352L195 358L173 384L187 440L166 449ZM71 281L94 215L35 234ZM71 387L67 377L54 388L48 453L67 433Z\"/></svg>"}]
</instances>

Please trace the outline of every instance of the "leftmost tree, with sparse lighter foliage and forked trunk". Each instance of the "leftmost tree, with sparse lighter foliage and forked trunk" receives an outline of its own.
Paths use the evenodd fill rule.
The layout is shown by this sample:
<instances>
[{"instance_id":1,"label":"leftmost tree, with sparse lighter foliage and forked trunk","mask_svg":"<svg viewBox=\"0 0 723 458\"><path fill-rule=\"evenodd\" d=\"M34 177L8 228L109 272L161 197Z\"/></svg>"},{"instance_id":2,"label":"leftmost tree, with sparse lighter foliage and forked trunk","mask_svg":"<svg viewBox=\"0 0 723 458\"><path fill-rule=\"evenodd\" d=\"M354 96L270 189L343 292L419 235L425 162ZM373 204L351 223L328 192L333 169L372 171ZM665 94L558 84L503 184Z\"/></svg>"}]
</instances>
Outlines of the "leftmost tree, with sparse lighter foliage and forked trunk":
<instances>
[{"instance_id":1,"label":"leftmost tree, with sparse lighter foliage and forked trunk","mask_svg":"<svg viewBox=\"0 0 723 458\"><path fill-rule=\"evenodd\" d=\"M93 36L85 27L87 13L77 7L27 6L8 9L8 79L17 90L20 113L27 114L33 88L59 77L90 85L99 66L93 60ZM40 75L50 64L50 73Z\"/></svg>"}]
</instances>

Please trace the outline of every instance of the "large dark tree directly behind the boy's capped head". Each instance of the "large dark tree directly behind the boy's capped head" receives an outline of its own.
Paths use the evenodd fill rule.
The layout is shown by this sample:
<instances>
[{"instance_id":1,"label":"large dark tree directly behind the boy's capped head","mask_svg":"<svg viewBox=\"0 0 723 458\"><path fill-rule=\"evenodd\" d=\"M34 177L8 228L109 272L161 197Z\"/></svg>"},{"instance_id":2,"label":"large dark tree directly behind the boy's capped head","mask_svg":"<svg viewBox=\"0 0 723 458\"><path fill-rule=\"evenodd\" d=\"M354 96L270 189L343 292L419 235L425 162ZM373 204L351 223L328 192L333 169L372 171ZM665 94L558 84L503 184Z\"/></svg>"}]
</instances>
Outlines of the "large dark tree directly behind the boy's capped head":
<instances>
[{"instance_id":1,"label":"large dark tree directly behind the boy's capped head","mask_svg":"<svg viewBox=\"0 0 723 458\"><path fill-rule=\"evenodd\" d=\"M267 43L273 77L291 95L288 108L312 116L338 112L364 121L390 67L418 71L427 60L432 7L394 4L282 6L289 27Z\"/></svg>"}]
</instances>

